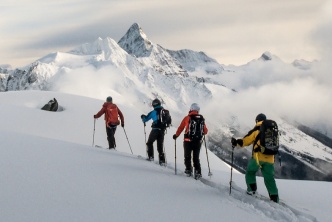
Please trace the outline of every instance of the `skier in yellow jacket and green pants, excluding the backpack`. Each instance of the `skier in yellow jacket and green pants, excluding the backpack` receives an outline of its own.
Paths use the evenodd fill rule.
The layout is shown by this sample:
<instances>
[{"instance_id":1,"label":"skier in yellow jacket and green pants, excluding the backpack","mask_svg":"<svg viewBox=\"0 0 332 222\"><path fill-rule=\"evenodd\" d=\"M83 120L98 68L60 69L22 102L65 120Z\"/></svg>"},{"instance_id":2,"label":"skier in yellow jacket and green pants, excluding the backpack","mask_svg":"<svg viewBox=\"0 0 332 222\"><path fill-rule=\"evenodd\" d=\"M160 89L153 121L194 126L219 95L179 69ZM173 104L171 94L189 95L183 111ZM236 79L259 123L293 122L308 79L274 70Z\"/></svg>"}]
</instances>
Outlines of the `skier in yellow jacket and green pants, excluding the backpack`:
<instances>
[{"instance_id":1,"label":"skier in yellow jacket and green pants, excluding the backpack","mask_svg":"<svg viewBox=\"0 0 332 222\"><path fill-rule=\"evenodd\" d=\"M249 160L245 176L247 184L247 194L256 194L256 173L260 169L263 174L264 183L269 192L270 199L278 203L278 188L274 179L274 155L265 155L261 153L259 149L260 141L258 140L257 143L255 143L256 137L259 134L260 125L264 120L266 120L266 116L263 113L258 114L256 117L255 127L250 130L248 134L242 139L232 138L231 143L234 147L245 147L253 144L252 158Z\"/></svg>"}]
</instances>

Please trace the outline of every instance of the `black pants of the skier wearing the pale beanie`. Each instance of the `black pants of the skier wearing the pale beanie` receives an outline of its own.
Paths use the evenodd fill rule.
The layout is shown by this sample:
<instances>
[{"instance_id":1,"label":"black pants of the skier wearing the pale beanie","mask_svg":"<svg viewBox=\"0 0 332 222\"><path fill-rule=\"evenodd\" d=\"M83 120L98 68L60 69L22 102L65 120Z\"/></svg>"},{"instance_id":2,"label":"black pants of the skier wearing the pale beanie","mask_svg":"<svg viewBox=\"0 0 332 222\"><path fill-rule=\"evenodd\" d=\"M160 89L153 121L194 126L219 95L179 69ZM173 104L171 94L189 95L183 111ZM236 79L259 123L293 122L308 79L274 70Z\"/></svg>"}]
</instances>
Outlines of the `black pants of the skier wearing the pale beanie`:
<instances>
[{"instance_id":1,"label":"black pants of the skier wearing the pale beanie","mask_svg":"<svg viewBox=\"0 0 332 222\"><path fill-rule=\"evenodd\" d=\"M199 153L201 151L201 141L184 141L184 165L186 166L186 170L192 172L191 166L191 153L193 156L193 163L196 173L201 174L201 164L199 161Z\"/></svg>"}]
</instances>

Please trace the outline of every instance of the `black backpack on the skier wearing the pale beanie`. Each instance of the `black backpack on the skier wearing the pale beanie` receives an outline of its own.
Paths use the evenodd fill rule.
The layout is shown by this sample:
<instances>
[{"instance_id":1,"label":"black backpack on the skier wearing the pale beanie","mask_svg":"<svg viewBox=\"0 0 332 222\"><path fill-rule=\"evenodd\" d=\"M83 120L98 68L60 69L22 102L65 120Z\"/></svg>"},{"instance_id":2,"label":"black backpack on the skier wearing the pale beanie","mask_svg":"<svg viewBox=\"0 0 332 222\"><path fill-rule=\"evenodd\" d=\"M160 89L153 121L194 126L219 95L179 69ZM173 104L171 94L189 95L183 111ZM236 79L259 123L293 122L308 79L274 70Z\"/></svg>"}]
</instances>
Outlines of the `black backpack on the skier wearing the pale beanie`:
<instances>
[{"instance_id":1,"label":"black backpack on the skier wearing the pale beanie","mask_svg":"<svg viewBox=\"0 0 332 222\"><path fill-rule=\"evenodd\" d=\"M188 136L190 141L202 141L205 120L202 115L190 115Z\"/></svg>"}]
</instances>

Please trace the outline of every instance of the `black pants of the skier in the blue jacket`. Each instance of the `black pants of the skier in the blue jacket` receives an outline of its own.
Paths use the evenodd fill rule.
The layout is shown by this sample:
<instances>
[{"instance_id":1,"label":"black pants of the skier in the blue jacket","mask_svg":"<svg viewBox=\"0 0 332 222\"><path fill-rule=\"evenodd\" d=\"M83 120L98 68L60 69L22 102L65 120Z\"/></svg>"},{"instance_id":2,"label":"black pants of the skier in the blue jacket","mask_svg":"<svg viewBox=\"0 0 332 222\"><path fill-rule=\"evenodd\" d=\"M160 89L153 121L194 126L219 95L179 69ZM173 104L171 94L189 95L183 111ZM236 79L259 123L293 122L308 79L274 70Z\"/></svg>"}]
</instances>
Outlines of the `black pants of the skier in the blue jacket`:
<instances>
[{"instance_id":1,"label":"black pants of the skier in the blue jacket","mask_svg":"<svg viewBox=\"0 0 332 222\"><path fill-rule=\"evenodd\" d=\"M159 162L165 163L165 154L164 154L164 137L165 137L165 130L152 128L149 139L146 142L147 152L149 158L154 158L153 152L153 143L157 140L157 150L159 154Z\"/></svg>"}]
</instances>

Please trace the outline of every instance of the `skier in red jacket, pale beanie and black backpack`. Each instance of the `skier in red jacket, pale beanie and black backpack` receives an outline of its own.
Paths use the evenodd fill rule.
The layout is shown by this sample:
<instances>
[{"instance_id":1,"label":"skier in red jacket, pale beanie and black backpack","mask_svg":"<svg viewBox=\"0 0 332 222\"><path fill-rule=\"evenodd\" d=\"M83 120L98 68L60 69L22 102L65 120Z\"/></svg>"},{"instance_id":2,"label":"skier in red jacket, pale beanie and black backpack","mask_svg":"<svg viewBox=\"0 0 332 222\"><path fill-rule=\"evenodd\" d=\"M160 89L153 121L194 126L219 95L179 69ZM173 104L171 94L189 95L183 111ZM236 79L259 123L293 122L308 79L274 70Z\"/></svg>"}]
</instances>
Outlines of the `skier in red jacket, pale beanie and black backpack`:
<instances>
[{"instance_id":1,"label":"skier in red jacket, pale beanie and black backpack","mask_svg":"<svg viewBox=\"0 0 332 222\"><path fill-rule=\"evenodd\" d=\"M182 131L185 129L183 148L184 165L186 169L184 172L187 176L192 175L191 153L193 153L192 160L195 168L195 179L202 177L199 153L203 141L203 136L208 132L204 118L202 115L199 115L199 111L199 105L197 103L193 103L190 106L189 114L183 118L176 133L173 135L173 139L176 140L176 138L179 137ZM196 120L197 122L195 122ZM193 129L194 122L197 125L196 130Z\"/></svg>"}]
</instances>

